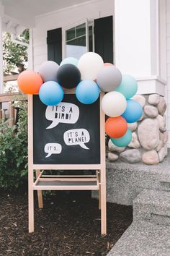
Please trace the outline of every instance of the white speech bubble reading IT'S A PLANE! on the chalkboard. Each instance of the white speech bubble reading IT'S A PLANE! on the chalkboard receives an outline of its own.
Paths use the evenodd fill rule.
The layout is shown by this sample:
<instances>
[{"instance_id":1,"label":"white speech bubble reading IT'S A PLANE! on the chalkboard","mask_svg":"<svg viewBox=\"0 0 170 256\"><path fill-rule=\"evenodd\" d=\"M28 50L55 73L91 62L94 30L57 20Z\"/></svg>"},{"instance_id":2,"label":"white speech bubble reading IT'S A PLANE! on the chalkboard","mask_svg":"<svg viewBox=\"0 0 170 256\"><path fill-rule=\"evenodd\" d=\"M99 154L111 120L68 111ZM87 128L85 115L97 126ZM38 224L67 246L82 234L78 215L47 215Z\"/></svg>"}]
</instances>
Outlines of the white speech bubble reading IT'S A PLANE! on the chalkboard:
<instances>
[{"instance_id":1,"label":"white speech bubble reading IT'S A PLANE! on the chalkboard","mask_svg":"<svg viewBox=\"0 0 170 256\"><path fill-rule=\"evenodd\" d=\"M80 145L81 148L89 150L84 143L89 142L90 135L86 129L68 129L63 135L66 145Z\"/></svg>"}]
</instances>

